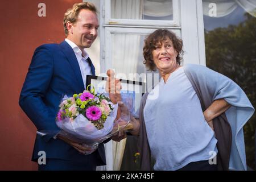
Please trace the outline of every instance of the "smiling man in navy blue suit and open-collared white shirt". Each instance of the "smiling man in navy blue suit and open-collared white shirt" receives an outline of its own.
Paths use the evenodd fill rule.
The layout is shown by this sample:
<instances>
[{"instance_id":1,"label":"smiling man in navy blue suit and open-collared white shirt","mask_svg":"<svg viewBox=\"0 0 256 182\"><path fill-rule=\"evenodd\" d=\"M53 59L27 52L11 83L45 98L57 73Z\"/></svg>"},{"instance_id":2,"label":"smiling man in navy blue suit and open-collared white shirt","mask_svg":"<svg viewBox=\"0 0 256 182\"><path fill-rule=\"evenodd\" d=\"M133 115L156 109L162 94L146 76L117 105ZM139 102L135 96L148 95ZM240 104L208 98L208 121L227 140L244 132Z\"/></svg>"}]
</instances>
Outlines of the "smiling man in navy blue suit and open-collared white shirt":
<instances>
[{"instance_id":1,"label":"smiling man in navy blue suit and open-collared white shirt","mask_svg":"<svg viewBox=\"0 0 256 182\"><path fill-rule=\"evenodd\" d=\"M38 131L51 131L43 136L36 135L32 160L38 161L39 151L46 152L46 164L39 164L39 170L95 170L96 166L106 164L103 144L95 151L82 147L57 135L60 129L55 124L61 98L65 94L82 93L86 75L95 75L85 48L89 48L97 37L96 13L92 3L75 4L64 15L67 39L60 44L36 48L32 57L19 105Z\"/></svg>"}]
</instances>

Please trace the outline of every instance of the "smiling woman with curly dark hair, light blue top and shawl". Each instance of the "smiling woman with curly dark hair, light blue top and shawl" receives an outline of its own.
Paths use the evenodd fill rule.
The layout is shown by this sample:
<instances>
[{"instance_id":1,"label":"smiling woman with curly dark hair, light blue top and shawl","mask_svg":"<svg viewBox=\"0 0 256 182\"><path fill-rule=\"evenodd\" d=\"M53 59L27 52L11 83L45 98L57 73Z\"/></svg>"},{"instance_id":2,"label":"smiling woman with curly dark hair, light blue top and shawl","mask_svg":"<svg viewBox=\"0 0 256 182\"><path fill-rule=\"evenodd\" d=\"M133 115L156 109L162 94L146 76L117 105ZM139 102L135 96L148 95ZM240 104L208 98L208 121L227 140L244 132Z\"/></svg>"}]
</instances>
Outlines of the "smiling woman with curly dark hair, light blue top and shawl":
<instances>
[{"instance_id":1,"label":"smiling woman with curly dark hair, light blue top and shawl","mask_svg":"<svg viewBox=\"0 0 256 182\"><path fill-rule=\"evenodd\" d=\"M143 95L139 119L131 119L141 169L246 170L242 126L254 107L228 77L202 65L181 66L182 47L168 30L144 40L144 64L162 78Z\"/></svg>"}]
</instances>

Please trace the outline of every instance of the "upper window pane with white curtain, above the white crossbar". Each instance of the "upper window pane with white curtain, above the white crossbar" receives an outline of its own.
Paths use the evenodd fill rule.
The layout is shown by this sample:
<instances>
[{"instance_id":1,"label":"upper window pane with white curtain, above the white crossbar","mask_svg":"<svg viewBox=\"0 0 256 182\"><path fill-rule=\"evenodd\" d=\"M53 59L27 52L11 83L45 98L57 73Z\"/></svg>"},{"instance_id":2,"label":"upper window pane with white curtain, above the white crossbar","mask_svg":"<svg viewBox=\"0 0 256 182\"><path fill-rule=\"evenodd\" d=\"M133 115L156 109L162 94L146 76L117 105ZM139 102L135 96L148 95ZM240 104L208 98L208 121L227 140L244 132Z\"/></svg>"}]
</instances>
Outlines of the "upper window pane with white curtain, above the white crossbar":
<instances>
[{"instance_id":1,"label":"upper window pane with white curtain, above the white crossbar","mask_svg":"<svg viewBox=\"0 0 256 182\"><path fill-rule=\"evenodd\" d=\"M172 20L172 0L112 0L111 18Z\"/></svg>"}]
</instances>

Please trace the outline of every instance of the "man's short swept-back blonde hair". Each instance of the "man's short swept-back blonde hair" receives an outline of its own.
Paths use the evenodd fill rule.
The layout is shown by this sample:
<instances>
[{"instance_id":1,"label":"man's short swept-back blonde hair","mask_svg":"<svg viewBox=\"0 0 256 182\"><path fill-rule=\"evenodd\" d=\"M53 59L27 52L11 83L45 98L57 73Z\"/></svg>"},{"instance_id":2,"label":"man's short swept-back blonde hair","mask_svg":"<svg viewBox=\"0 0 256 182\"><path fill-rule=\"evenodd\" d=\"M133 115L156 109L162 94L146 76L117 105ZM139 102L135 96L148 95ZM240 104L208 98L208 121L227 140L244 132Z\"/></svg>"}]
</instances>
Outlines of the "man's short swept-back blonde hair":
<instances>
[{"instance_id":1,"label":"man's short swept-back blonde hair","mask_svg":"<svg viewBox=\"0 0 256 182\"><path fill-rule=\"evenodd\" d=\"M67 22L76 23L77 16L79 15L80 10L83 10L83 9L93 11L97 15L97 9L93 5L93 3L90 3L90 2L75 3L72 9L68 9L64 15L63 26L64 26L64 31L66 36L68 36Z\"/></svg>"}]
</instances>

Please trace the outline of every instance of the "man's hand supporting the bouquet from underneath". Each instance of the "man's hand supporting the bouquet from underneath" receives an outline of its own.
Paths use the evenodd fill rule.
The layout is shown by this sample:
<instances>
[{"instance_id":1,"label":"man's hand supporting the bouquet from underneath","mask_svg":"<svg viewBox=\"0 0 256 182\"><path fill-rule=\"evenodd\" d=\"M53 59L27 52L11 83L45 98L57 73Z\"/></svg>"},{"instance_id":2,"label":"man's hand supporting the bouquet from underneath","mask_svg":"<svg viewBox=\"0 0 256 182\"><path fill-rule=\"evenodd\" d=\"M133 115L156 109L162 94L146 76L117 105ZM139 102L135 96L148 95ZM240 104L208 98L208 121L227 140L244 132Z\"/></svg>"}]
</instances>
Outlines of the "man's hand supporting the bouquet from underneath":
<instances>
[{"instance_id":1,"label":"man's hand supporting the bouquet from underneath","mask_svg":"<svg viewBox=\"0 0 256 182\"><path fill-rule=\"evenodd\" d=\"M80 143L76 143L71 139L68 139L67 137L57 135L57 138L63 140L64 142L68 143L70 146L74 147L77 151L79 151L81 154L92 154L92 152L96 151L97 147L85 147Z\"/></svg>"}]
</instances>

